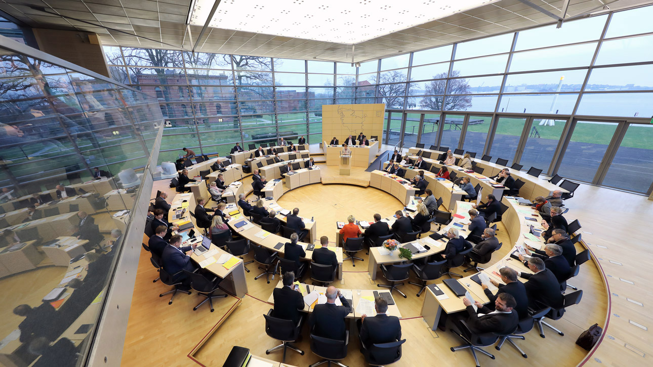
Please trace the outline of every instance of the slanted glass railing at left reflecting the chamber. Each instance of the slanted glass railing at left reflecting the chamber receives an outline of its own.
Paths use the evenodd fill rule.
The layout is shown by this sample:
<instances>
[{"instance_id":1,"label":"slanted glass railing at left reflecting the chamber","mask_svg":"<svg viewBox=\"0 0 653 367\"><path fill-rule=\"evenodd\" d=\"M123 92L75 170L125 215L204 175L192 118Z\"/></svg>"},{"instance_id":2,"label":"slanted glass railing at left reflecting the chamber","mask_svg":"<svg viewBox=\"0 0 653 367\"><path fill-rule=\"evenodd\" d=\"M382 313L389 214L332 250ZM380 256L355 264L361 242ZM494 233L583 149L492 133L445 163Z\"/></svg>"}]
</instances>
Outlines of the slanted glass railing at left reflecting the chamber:
<instances>
[{"instance_id":1,"label":"slanted glass railing at left reflecting the chamber","mask_svg":"<svg viewBox=\"0 0 653 367\"><path fill-rule=\"evenodd\" d=\"M163 116L156 98L0 38L0 366L80 365Z\"/></svg>"}]
</instances>

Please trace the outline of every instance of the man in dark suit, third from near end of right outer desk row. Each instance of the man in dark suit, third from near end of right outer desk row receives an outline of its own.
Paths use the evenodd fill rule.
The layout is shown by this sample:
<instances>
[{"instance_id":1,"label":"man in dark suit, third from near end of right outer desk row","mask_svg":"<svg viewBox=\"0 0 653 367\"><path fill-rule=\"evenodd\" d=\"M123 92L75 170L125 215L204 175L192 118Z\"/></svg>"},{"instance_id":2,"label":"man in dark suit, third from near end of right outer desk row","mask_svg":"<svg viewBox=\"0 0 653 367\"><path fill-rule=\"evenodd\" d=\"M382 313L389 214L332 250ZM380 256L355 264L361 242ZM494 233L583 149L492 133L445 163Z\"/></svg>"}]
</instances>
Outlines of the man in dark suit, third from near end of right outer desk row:
<instances>
[{"instance_id":1,"label":"man in dark suit, third from near end of right outer desk row","mask_svg":"<svg viewBox=\"0 0 653 367\"><path fill-rule=\"evenodd\" d=\"M545 267L544 261L539 257L532 257L528 261L528 269L535 274L520 273L522 278L528 279L528 282L524 283L528 306L539 310L542 305L537 304L537 301L553 308L561 308L564 299L560 293L560 282L553 272Z\"/></svg>"}]
</instances>

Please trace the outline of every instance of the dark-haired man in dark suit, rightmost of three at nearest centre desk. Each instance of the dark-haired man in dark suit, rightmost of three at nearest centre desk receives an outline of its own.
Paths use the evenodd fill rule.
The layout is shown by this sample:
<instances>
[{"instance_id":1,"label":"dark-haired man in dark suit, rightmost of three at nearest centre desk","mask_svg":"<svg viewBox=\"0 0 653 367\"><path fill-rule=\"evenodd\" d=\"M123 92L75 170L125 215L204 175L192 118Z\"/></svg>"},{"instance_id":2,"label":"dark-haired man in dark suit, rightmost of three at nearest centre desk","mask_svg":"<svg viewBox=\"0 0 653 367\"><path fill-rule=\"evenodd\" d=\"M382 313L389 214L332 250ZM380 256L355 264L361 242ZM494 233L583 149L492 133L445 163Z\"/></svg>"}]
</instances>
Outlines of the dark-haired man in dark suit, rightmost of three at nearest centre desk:
<instances>
[{"instance_id":1,"label":"dark-haired man in dark suit, rightmost of three at nearest centre desk","mask_svg":"<svg viewBox=\"0 0 653 367\"><path fill-rule=\"evenodd\" d=\"M356 320L358 334L360 335L361 351L372 347L373 344L384 344L396 342L402 339L402 325L399 323L399 317L387 316L388 301L383 297L374 299L374 310L376 316L367 316L362 314L360 319Z\"/></svg>"}]
</instances>

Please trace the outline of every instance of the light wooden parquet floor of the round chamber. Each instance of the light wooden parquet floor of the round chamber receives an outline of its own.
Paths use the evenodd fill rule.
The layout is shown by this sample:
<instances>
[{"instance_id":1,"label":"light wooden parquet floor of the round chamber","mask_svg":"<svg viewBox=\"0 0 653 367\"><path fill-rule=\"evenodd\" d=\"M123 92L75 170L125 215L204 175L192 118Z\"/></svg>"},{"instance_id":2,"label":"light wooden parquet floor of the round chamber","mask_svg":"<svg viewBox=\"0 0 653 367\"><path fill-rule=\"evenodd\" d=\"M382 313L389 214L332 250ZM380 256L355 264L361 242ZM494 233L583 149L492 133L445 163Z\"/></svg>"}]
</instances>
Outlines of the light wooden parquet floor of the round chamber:
<instances>
[{"instance_id":1,"label":"light wooden parquet floor of the round chamber","mask_svg":"<svg viewBox=\"0 0 653 367\"><path fill-rule=\"evenodd\" d=\"M331 171L329 168L325 169L323 177L326 174L331 175ZM362 169L353 173L356 178L368 175ZM251 182L251 179L244 180L249 185L247 180ZM166 184L167 181L157 181L153 190L165 188ZM616 206L614 203L620 203L622 209L613 209ZM334 241L336 220L343 221L349 214L360 220L370 220L374 213L387 216L403 206L390 194L375 188L342 184L313 184L297 188L286 192L279 199L279 204L286 209L299 207L301 216L314 216L317 220L317 236L327 235L330 241ZM650 222L650 214L653 214L653 203L642 196L582 185L575 198L565 201L565 205L570 208L569 213L565 215L567 220L580 220L583 226L582 237L590 243L590 249L599 257L599 264L608 274L609 286L613 292L613 317L609 320L607 337L590 357L588 364L599 364L600 361L604 365L612 366L651 365L646 362L648 352L653 349L647 342L650 340L648 331L629 323L629 320L648 327L653 317L648 316L643 306L626 300L628 297L647 305L653 301L652 296L646 292L650 287L643 286L648 283L646 280L650 279L650 276L646 276L648 273L645 271L635 271L637 266L650 263L651 255L646 252L646 247L650 246L651 241L644 234L645 231L626 232L622 228L639 229L650 226L647 222ZM506 238L501 224L498 228L500 241L511 243L510 239ZM502 250L507 252L509 248L510 246L503 246ZM342 287L377 289L367 273L368 256L363 252L358 254L362 254L360 257L364 258L362 263L357 261L356 267L352 267L351 262L345 262L343 265ZM237 300L234 297L217 299L215 312L209 312L206 305L193 312L193 306L201 301L201 297L195 293L179 294L174 303L168 306L168 297L158 297L159 293L167 291L168 287L161 282L152 283L157 276L156 271L151 266L146 252L141 255L123 349L123 366L197 366L197 363L188 357L189 352L216 323L219 323ZM495 256L503 257L505 252L499 252ZM246 257L246 260L251 257ZM615 263L611 263L611 260ZM263 314L271 306L261 301L268 299L278 279L271 284L266 284L264 278L254 280L260 271L256 269L255 263L247 267L251 271L247 273L248 294L194 355L204 366L221 366L232 345L248 347L252 353L264 356L266 349L278 344L264 332ZM461 272L462 269L454 271ZM441 283L442 279L436 283ZM383 277L376 282L383 284ZM581 304L569 308L563 319L551 321L565 336L546 330L547 338L543 339L534 330L526 334L526 340L518 341L528 353L528 359L523 359L513 347L506 344L501 351L492 347L486 348L496 355L496 360L479 356L481 365L576 366L581 363L588 353L574 342L577 336L593 323L604 325L608 294L601 281L599 269L593 261L582 265L581 274L573 279L573 284L584 291ZM449 347L460 344L456 336L451 332L432 332L426 327L426 323L419 316L423 297L415 297L419 287L407 284L402 290L408 295L407 299L395 299L404 317L401 321L402 332L407 342L404 344L402 360L395 365L432 365L437 361L438 365L444 366L473 366L469 351L453 353L449 350ZM358 352L357 333L353 329L349 355L343 363L348 366L362 366L364 361ZM304 336L298 346L306 354L300 356L294 351L288 351L287 363L307 366L318 360L310 352L306 330ZM280 361L281 352L274 352L267 358Z\"/></svg>"}]
</instances>

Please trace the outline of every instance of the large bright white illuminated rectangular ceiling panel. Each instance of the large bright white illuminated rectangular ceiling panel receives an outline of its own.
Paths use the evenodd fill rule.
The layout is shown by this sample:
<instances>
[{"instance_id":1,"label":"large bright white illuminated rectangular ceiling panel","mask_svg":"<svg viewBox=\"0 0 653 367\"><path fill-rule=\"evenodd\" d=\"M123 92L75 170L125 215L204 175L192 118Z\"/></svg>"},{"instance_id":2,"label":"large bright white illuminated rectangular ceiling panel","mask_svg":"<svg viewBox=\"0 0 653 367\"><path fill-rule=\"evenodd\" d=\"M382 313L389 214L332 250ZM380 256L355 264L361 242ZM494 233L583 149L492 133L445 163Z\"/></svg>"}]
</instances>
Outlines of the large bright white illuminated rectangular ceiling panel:
<instances>
[{"instance_id":1,"label":"large bright white illuminated rectangular ceiling panel","mask_svg":"<svg viewBox=\"0 0 653 367\"><path fill-rule=\"evenodd\" d=\"M357 44L497 1L222 0L209 26L260 33L261 26L268 25L269 35ZM204 26L214 2L195 0L189 23Z\"/></svg>"}]
</instances>

